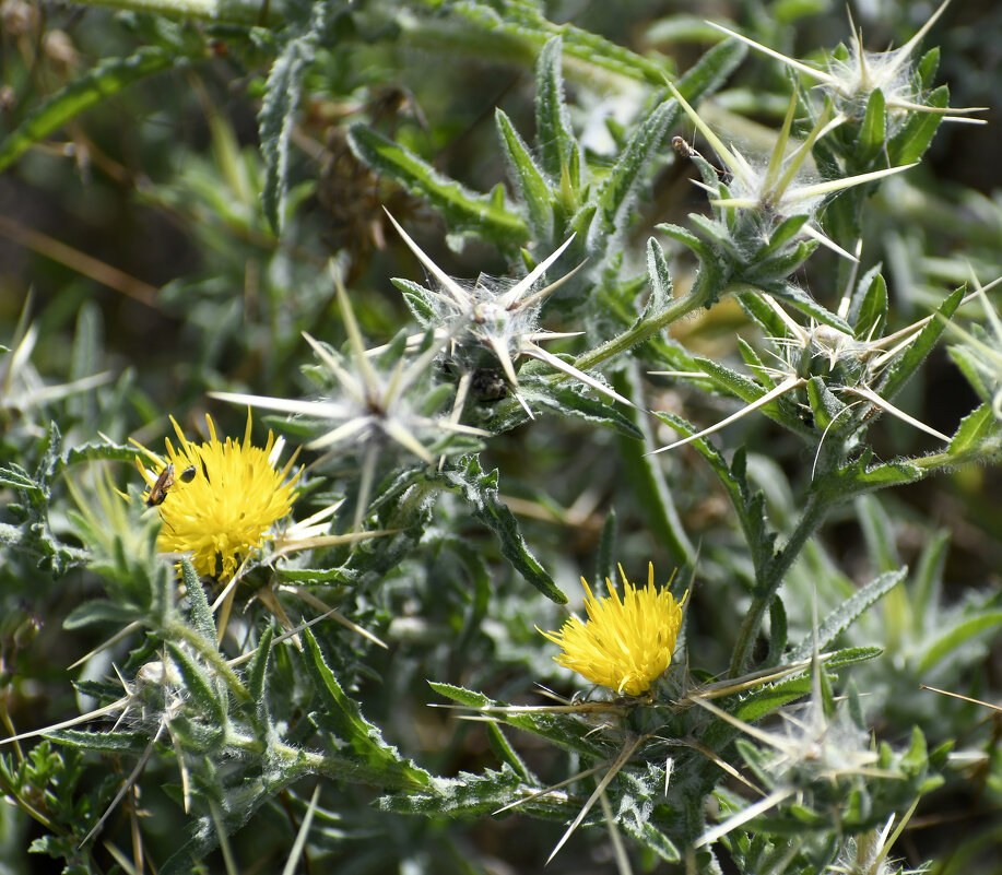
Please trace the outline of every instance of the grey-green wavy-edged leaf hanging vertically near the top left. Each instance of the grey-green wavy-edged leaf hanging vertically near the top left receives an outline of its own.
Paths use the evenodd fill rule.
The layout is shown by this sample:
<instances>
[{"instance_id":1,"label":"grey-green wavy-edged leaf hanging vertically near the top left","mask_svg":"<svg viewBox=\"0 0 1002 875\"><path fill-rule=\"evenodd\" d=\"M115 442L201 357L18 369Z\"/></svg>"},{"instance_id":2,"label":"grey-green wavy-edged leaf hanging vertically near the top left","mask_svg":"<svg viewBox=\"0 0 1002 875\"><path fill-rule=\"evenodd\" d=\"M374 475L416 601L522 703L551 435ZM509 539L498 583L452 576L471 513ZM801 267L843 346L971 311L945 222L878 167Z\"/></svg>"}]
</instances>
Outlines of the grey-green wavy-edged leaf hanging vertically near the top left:
<instances>
[{"instance_id":1,"label":"grey-green wavy-edged leaf hanging vertically near the top left","mask_svg":"<svg viewBox=\"0 0 1002 875\"><path fill-rule=\"evenodd\" d=\"M264 97L258 114L258 137L266 168L261 203L275 233L282 230L285 222L288 145L295 128L303 80L313 62L316 45L317 38L313 33L290 39L275 58L264 83Z\"/></svg>"}]
</instances>

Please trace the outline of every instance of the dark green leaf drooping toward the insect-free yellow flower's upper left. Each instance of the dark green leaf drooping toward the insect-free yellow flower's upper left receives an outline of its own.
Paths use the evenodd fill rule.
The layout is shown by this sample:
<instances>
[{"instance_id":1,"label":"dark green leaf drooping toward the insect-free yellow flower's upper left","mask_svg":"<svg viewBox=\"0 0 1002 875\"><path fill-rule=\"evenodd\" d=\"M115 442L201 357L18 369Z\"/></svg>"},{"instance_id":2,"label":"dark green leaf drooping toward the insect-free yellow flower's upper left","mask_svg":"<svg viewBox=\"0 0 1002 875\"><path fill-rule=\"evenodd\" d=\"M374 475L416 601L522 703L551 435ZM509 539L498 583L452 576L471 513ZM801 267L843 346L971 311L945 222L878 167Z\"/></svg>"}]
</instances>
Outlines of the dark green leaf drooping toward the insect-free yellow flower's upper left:
<instances>
[{"instance_id":1,"label":"dark green leaf drooping toward the insect-free yellow flower's upper left","mask_svg":"<svg viewBox=\"0 0 1002 875\"><path fill-rule=\"evenodd\" d=\"M459 487L474 518L497 536L502 554L511 563L512 567L547 599L557 604L567 604L567 596L557 589L553 578L529 552L515 515L500 500L497 492L497 476L496 469L485 474L475 456L467 460L463 470L451 469L445 472L446 480L452 486Z\"/></svg>"}]
</instances>

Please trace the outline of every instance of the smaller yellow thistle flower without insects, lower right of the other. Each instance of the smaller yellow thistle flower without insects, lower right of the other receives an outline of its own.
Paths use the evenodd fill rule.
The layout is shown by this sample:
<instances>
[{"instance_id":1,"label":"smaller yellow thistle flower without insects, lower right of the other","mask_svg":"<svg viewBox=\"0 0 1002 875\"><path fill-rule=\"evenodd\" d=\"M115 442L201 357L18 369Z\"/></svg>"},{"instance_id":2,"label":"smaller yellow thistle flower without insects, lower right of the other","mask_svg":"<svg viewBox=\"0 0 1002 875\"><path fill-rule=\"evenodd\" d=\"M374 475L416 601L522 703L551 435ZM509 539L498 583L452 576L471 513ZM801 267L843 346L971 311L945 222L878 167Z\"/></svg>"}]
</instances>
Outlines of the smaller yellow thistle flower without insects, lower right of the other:
<instances>
[{"instance_id":1,"label":"smaller yellow thistle flower without insects, lower right of the other","mask_svg":"<svg viewBox=\"0 0 1002 875\"><path fill-rule=\"evenodd\" d=\"M605 584L611 594L599 599L581 578L588 593L588 622L570 617L557 632L540 631L563 649L554 657L561 665L616 693L639 696L671 664L688 593L675 601L667 587L656 590L653 564L648 566L644 589L626 579L622 565L620 575L623 599L609 578Z\"/></svg>"}]
</instances>

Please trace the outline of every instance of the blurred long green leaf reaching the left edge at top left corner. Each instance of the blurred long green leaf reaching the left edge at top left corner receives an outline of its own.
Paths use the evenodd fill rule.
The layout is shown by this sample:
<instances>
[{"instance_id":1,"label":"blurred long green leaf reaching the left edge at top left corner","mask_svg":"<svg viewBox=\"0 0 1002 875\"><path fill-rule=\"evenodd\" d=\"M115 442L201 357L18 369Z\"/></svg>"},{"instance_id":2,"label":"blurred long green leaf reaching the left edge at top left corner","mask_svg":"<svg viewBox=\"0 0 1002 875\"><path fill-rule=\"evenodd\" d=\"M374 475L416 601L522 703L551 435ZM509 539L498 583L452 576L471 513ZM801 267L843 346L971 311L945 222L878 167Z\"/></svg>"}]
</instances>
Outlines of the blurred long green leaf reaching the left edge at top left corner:
<instances>
[{"instance_id":1,"label":"blurred long green leaf reaching the left edge at top left corner","mask_svg":"<svg viewBox=\"0 0 1002 875\"><path fill-rule=\"evenodd\" d=\"M168 70L186 57L157 46L143 46L128 58L107 58L35 109L0 143L0 173L39 140L95 104L141 79Z\"/></svg>"}]
</instances>

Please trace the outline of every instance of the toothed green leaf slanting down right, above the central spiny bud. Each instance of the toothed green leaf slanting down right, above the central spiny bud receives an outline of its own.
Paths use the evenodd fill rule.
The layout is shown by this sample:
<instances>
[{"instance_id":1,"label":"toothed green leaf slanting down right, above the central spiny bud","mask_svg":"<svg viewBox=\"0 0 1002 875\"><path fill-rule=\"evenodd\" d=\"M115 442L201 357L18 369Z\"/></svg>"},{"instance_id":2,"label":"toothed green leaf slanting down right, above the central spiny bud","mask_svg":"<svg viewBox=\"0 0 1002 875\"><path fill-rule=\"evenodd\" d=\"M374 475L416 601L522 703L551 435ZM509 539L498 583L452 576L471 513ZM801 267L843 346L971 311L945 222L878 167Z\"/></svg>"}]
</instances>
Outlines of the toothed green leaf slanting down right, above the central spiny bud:
<instances>
[{"instance_id":1,"label":"toothed green leaf slanting down right, above the central spiny bud","mask_svg":"<svg viewBox=\"0 0 1002 875\"><path fill-rule=\"evenodd\" d=\"M518 246L529 238L529 228L514 212L444 176L372 128L352 126L347 142L361 162L434 206L452 233L472 233L499 247Z\"/></svg>"}]
</instances>

